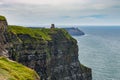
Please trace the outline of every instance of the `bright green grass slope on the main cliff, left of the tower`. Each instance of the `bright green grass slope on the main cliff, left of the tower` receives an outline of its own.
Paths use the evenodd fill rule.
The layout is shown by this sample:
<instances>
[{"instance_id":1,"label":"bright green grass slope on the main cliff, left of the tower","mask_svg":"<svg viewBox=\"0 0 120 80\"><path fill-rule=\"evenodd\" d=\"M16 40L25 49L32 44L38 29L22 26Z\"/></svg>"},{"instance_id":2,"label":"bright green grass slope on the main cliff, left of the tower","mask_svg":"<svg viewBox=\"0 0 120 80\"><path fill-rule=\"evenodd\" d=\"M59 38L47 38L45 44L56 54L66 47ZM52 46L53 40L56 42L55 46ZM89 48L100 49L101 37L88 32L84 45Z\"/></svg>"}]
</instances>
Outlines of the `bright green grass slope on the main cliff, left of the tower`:
<instances>
[{"instance_id":1,"label":"bright green grass slope on the main cliff, left of the tower","mask_svg":"<svg viewBox=\"0 0 120 80\"><path fill-rule=\"evenodd\" d=\"M43 32L41 29L32 29L23 26L9 25L8 32L13 34L27 34L35 39L51 40L50 36Z\"/></svg>"}]
</instances>

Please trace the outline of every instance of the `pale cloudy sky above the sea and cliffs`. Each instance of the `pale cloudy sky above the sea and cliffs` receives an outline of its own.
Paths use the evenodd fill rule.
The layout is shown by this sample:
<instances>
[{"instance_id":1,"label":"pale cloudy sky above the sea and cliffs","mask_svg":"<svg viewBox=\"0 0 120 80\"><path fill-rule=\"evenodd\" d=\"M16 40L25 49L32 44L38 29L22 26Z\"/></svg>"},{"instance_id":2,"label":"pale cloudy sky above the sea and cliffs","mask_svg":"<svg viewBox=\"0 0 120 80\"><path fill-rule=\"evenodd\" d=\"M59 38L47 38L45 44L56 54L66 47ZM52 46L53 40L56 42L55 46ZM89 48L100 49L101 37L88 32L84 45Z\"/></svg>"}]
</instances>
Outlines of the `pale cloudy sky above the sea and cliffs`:
<instances>
[{"instance_id":1,"label":"pale cloudy sky above the sea and cliffs","mask_svg":"<svg viewBox=\"0 0 120 80\"><path fill-rule=\"evenodd\" d=\"M0 0L11 25L120 25L120 0Z\"/></svg>"}]
</instances>

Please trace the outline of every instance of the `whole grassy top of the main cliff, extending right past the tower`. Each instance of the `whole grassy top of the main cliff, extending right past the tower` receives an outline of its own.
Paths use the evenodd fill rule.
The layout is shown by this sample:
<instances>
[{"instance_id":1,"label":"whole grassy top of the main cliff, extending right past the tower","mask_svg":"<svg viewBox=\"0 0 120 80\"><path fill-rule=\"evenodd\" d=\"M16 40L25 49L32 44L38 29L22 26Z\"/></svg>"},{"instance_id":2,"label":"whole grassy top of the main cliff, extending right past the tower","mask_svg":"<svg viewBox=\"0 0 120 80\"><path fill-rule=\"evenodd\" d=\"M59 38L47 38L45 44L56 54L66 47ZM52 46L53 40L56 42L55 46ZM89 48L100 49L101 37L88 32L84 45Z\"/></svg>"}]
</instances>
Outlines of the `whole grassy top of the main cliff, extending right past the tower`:
<instances>
[{"instance_id":1,"label":"whole grassy top of the main cliff, extending right past the tower","mask_svg":"<svg viewBox=\"0 0 120 80\"><path fill-rule=\"evenodd\" d=\"M27 34L35 39L52 40L51 36L57 33L63 34L67 39L72 39L68 32L64 29L49 29L49 28L27 28L23 26L9 25L8 32L15 35Z\"/></svg>"}]
</instances>

